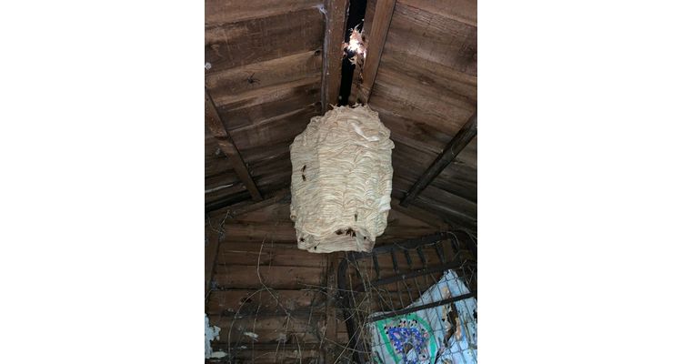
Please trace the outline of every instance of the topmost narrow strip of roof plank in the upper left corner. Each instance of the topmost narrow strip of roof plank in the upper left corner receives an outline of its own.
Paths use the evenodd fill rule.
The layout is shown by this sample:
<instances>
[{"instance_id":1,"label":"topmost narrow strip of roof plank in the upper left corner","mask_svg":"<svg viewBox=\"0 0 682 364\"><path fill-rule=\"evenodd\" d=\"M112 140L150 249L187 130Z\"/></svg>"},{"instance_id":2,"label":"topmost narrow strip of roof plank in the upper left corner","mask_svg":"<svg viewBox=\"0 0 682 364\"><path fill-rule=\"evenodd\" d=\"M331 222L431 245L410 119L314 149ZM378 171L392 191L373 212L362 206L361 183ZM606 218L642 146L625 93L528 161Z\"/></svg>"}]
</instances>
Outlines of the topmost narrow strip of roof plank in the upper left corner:
<instances>
[{"instance_id":1,"label":"topmost narrow strip of roof plank in the upper left corner","mask_svg":"<svg viewBox=\"0 0 682 364\"><path fill-rule=\"evenodd\" d=\"M315 7L319 0L206 0L204 23L220 25Z\"/></svg>"}]
</instances>

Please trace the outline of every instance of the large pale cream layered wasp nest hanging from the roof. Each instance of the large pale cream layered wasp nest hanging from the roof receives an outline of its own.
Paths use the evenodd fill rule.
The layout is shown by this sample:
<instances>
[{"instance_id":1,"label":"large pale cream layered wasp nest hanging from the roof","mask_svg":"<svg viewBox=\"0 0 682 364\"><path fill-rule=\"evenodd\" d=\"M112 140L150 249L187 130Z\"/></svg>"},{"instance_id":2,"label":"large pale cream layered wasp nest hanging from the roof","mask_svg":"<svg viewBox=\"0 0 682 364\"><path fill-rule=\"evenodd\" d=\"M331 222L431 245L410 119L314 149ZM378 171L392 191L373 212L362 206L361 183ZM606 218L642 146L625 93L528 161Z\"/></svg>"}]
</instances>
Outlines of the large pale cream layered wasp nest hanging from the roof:
<instances>
[{"instance_id":1,"label":"large pale cream layered wasp nest hanging from the roof","mask_svg":"<svg viewBox=\"0 0 682 364\"><path fill-rule=\"evenodd\" d=\"M290 147L298 248L371 251L391 208L391 132L368 106L315 116Z\"/></svg>"}]
</instances>

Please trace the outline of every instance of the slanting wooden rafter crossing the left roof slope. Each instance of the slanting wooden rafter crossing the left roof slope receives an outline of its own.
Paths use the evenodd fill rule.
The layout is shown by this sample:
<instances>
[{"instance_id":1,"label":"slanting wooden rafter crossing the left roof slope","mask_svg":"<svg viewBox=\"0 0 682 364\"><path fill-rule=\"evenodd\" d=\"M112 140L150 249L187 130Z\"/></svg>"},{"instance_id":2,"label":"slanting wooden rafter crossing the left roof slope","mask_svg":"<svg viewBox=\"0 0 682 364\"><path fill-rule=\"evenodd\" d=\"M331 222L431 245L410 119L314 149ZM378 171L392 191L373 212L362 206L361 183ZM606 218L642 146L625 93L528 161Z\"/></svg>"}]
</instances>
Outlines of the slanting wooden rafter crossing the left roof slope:
<instances>
[{"instance_id":1,"label":"slanting wooden rafter crossing the left roof slope","mask_svg":"<svg viewBox=\"0 0 682 364\"><path fill-rule=\"evenodd\" d=\"M246 186L246 189L251 194L251 197L256 201L262 200L263 196L261 196L260 191L258 191L258 187L256 187L254 178L251 177L248 168L246 168L246 163L244 163L244 159L242 159L241 154L239 154L239 150L236 148L235 142L232 140L232 137L227 132L225 126L223 126L223 121L220 119L220 115L216 110L216 105L214 105L213 99L210 95L208 95L208 91L206 91L206 89L204 90L204 96L206 99L206 124L208 125L208 129L211 131L211 134L213 134L213 136L216 138L218 147L220 147L223 153L225 153L227 158L230 160L232 167L235 168L236 175L242 181L244 186Z\"/></svg>"}]
</instances>

